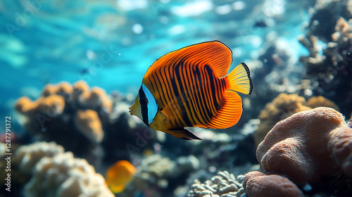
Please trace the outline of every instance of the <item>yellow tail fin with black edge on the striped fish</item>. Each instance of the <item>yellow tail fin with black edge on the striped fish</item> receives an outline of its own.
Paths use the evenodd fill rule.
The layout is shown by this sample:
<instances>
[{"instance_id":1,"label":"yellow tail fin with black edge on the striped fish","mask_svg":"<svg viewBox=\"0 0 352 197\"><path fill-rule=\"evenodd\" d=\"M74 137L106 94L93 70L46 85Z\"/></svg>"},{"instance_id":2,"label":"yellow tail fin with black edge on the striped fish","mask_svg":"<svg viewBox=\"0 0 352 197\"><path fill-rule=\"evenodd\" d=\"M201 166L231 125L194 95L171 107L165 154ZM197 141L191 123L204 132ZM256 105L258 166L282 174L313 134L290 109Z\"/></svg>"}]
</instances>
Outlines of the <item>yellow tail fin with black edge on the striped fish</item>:
<instances>
[{"instance_id":1,"label":"yellow tail fin with black edge on the striped fish","mask_svg":"<svg viewBox=\"0 0 352 197\"><path fill-rule=\"evenodd\" d=\"M241 92L242 94L251 94L253 84L249 68L245 63L240 63L227 76L230 88L233 91Z\"/></svg>"}]
</instances>

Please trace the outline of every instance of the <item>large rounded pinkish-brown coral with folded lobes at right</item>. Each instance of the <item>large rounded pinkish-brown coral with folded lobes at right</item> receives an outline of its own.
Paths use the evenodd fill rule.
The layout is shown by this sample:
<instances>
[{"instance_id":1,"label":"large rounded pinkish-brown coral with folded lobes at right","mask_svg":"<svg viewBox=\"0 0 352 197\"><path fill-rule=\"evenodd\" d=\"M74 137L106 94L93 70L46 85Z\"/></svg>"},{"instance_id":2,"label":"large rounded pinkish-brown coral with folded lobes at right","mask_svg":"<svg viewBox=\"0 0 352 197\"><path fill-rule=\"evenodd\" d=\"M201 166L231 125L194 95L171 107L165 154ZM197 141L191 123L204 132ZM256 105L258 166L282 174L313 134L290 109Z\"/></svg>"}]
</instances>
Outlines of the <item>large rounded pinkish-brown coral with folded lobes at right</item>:
<instances>
[{"instance_id":1,"label":"large rounded pinkish-brown coral with folded lobes at right","mask_svg":"<svg viewBox=\"0 0 352 197\"><path fill-rule=\"evenodd\" d=\"M278 122L258 146L260 170L285 174L298 184L334 174L339 166L342 170L351 167L351 128L341 136L337 133L342 127L346 127L344 116L332 108L314 108L291 115ZM338 153L339 158L333 160Z\"/></svg>"}]
</instances>

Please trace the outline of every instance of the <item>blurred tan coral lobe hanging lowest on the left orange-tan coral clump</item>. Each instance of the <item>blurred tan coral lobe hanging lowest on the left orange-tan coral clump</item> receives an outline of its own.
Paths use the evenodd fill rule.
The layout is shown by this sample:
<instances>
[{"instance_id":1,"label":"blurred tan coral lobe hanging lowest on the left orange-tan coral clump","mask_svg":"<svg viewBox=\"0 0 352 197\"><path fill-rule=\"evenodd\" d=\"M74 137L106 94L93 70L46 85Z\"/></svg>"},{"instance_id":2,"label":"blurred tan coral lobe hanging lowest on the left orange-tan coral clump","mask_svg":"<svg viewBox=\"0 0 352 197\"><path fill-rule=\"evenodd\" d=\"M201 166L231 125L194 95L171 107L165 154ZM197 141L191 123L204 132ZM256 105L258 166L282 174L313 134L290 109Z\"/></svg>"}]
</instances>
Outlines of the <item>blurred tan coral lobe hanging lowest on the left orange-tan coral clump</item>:
<instances>
[{"instance_id":1,"label":"blurred tan coral lobe hanging lowest on the left orange-tan coral clump","mask_svg":"<svg viewBox=\"0 0 352 197\"><path fill-rule=\"evenodd\" d=\"M103 140L103 126L96 111L77 110L74 120L77 129L88 139L97 143Z\"/></svg>"}]
</instances>

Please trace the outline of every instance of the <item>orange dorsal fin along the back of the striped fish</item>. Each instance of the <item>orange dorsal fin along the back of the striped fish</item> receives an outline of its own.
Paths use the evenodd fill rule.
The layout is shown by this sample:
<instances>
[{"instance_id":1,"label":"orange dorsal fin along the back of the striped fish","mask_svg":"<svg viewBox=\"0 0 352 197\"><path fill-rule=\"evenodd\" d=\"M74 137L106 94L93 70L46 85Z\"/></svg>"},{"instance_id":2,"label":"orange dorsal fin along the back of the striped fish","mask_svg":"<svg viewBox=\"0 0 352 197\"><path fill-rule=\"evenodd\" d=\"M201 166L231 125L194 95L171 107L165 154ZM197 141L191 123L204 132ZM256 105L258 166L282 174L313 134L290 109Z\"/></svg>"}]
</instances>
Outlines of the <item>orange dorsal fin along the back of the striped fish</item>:
<instances>
[{"instance_id":1,"label":"orange dorsal fin along the back of the striped fish","mask_svg":"<svg viewBox=\"0 0 352 197\"><path fill-rule=\"evenodd\" d=\"M149 77L156 69L165 65L177 65L180 61L208 65L216 77L225 77L232 63L231 49L220 41L202 42L172 51L158 58L146 72Z\"/></svg>"}]
</instances>

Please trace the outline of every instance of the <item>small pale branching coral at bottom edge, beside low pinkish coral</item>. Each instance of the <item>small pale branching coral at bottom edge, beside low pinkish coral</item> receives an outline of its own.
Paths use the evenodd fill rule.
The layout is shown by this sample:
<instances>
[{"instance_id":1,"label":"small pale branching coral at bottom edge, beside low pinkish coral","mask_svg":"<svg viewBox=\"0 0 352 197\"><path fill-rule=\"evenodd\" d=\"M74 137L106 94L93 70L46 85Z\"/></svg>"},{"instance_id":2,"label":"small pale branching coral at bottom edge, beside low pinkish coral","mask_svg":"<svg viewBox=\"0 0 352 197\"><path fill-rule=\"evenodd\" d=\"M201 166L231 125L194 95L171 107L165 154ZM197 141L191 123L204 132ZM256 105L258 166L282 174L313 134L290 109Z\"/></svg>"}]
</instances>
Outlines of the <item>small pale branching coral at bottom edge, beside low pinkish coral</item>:
<instances>
[{"instance_id":1,"label":"small pale branching coral at bottom edge, beside low pinkish coral","mask_svg":"<svg viewBox=\"0 0 352 197\"><path fill-rule=\"evenodd\" d=\"M210 180L206 180L204 184L201 184L199 179L194 180L194 184L191 185L191 190L187 193L189 197L207 197L207 196L218 196L218 197L233 197L241 196L244 190L241 190L241 184L239 179L234 177L234 174L230 174L227 171L218 172Z\"/></svg>"}]
</instances>

